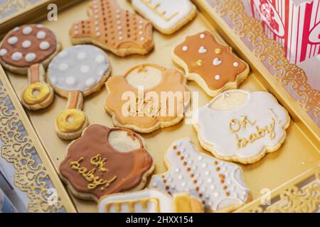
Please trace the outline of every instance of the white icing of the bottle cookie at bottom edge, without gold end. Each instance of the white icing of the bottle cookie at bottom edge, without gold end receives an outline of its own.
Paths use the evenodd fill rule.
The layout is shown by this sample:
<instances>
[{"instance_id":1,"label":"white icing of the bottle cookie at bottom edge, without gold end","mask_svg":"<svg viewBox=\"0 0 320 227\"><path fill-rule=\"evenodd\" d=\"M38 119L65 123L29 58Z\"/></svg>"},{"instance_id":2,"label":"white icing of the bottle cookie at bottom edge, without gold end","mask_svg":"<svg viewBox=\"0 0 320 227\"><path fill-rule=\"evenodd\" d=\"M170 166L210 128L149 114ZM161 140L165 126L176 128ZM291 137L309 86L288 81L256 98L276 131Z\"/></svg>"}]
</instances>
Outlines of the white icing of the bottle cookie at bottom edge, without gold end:
<instances>
[{"instance_id":1,"label":"white icing of the bottle cookie at bottom edge, without gold end","mask_svg":"<svg viewBox=\"0 0 320 227\"><path fill-rule=\"evenodd\" d=\"M106 213L106 206L110 204L110 213L118 213L114 203L119 204L121 202L120 213L129 213L129 202L137 201L139 199L156 199L159 203L160 213L172 213L174 212L174 199L166 192L157 189L144 189L138 192L127 192L122 194L112 194L100 199L98 204L98 212ZM146 209L141 203L134 204L134 213L155 213L157 211L157 204L152 200L148 201Z\"/></svg>"}]
</instances>

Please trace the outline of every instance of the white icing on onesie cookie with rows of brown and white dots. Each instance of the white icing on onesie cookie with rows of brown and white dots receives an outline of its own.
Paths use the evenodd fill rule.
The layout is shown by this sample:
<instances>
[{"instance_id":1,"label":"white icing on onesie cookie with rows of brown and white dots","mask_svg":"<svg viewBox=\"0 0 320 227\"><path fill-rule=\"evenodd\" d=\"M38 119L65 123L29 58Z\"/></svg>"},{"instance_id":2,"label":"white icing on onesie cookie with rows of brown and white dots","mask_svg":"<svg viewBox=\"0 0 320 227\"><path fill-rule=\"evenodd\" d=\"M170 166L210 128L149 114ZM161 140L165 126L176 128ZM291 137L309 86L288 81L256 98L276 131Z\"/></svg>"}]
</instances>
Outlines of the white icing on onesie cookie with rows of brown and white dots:
<instances>
[{"instance_id":1,"label":"white icing on onesie cookie with rows of brown and white dots","mask_svg":"<svg viewBox=\"0 0 320 227\"><path fill-rule=\"evenodd\" d=\"M178 145L178 143L180 143L180 145ZM175 147L176 149L174 149ZM185 155L177 155L177 152L182 148L185 148L185 153L190 155L189 159L194 160L192 167L196 166L196 171L191 170L188 172L188 167L191 166L183 165L183 162L187 162L188 159L186 159ZM181 156L184 157L183 160L180 159ZM201 159L198 157L201 157ZM156 188L166 190L167 192L171 192L171 194L186 192L189 189L189 192L193 196L205 201L206 207L212 211L217 211L218 209L223 209L228 206L241 205L247 200L247 196L249 194L248 189L246 187L244 188L239 186L239 184L245 185L242 177L240 179L235 179L235 177L225 176L225 180L230 181L230 185L227 189L223 189L225 184L221 183L220 175L225 175L227 172L229 173L229 176L233 176L235 172L237 172L237 175L238 173L242 175L240 167L233 163L223 162L209 155L199 153L198 150L193 147L189 139L174 142L166 153L166 160L168 160L171 166L169 171L164 175L154 175L151 178L151 187L156 184ZM215 162L217 162L217 164L215 164ZM203 163L206 163L206 165L203 165ZM222 166L221 164L223 164L223 166L228 166L227 172L217 170L218 167ZM178 174L174 171L176 168L181 169ZM206 175L206 172L210 172L210 177ZM194 177L190 177L191 174L193 174ZM173 178L173 182L176 187L173 189L169 182L164 183L162 177L164 177L164 179L169 179L170 177ZM197 181L196 184L194 180ZM239 183L238 180L241 182ZM166 186L169 186L169 190L166 189ZM199 188L198 192L196 191L197 187ZM235 194L230 194L228 196L226 192L229 192L229 187L234 187L234 192L237 194L243 194L243 199L239 198Z\"/></svg>"}]
</instances>

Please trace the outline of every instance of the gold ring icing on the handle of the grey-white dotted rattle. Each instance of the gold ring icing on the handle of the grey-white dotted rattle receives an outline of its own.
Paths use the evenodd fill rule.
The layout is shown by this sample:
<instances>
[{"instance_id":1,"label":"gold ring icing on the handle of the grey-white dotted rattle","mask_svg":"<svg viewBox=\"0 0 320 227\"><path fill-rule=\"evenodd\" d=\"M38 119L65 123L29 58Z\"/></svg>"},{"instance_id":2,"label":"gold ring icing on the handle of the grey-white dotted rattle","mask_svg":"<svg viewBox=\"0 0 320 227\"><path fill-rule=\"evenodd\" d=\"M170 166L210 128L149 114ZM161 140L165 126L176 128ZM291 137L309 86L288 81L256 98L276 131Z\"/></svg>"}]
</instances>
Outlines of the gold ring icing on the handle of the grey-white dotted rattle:
<instances>
[{"instance_id":1,"label":"gold ring icing on the handle of the grey-white dotted rattle","mask_svg":"<svg viewBox=\"0 0 320 227\"><path fill-rule=\"evenodd\" d=\"M69 118L73 118L73 121L68 121ZM78 109L66 109L58 115L57 126L60 131L65 133L74 133L80 130L85 123L85 114Z\"/></svg>"}]
</instances>

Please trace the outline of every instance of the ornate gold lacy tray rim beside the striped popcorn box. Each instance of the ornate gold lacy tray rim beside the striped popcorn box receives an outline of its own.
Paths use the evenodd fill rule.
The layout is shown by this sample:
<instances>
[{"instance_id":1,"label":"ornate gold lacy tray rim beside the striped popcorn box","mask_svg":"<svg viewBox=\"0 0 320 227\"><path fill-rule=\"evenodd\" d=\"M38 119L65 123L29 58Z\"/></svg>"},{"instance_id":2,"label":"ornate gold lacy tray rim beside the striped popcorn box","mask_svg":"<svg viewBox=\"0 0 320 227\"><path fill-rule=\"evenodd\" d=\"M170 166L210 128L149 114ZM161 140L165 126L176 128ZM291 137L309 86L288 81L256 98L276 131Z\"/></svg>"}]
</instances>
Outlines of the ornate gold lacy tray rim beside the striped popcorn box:
<instances>
[{"instance_id":1,"label":"ornate gold lacy tray rim beside the striped popcorn box","mask_svg":"<svg viewBox=\"0 0 320 227\"><path fill-rule=\"evenodd\" d=\"M198 0L203 1L203 0ZM247 15L241 0L204 0L213 6L219 15L228 21L230 28L239 35L245 43L250 43L250 49L264 63L274 78L287 89L302 108L320 127L320 92L312 89L301 68L290 64L285 57L282 45L267 38L262 23Z\"/></svg>"}]
</instances>

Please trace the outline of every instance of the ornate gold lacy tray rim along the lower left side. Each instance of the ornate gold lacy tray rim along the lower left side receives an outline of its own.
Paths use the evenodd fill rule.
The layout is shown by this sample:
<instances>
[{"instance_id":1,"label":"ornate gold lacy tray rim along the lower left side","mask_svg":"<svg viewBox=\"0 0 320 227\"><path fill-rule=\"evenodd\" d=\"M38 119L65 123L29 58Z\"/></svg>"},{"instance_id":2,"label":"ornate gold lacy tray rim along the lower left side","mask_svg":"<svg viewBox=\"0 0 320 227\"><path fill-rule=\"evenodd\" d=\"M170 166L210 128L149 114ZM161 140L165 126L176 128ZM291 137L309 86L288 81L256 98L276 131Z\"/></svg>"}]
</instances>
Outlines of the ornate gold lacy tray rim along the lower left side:
<instances>
[{"instance_id":1,"label":"ornate gold lacy tray rim along the lower left side","mask_svg":"<svg viewBox=\"0 0 320 227\"><path fill-rule=\"evenodd\" d=\"M22 131L21 131L22 129ZM0 140L1 157L13 163L16 172L14 184L28 195L29 212L58 212L64 209L60 199L50 204L53 191L47 182L50 177L42 162L34 158L33 142L23 133L23 124L16 109L11 106L7 90L0 82Z\"/></svg>"}]
</instances>

